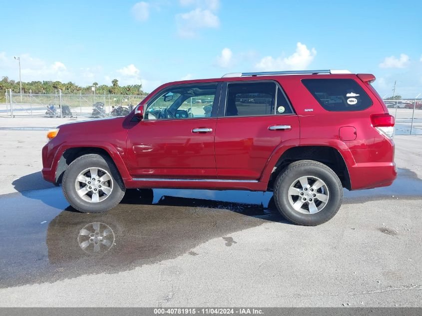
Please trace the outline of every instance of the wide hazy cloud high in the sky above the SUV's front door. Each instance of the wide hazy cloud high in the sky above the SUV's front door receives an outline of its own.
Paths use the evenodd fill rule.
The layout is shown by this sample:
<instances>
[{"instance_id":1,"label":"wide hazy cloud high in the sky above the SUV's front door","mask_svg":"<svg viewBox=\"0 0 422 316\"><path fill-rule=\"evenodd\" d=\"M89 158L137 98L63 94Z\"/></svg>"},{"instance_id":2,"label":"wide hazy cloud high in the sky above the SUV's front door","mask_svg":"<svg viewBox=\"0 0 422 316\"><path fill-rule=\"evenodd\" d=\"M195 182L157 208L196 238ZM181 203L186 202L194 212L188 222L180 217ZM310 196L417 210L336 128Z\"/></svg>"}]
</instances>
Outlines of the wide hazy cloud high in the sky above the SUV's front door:
<instances>
[{"instance_id":1,"label":"wide hazy cloud high in the sky above the SUV's front door","mask_svg":"<svg viewBox=\"0 0 422 316\"><path fill-rule=\"evenodd\" d=\"M217 28L220 20L211 10L196 8L176 15L177 32L182 37L195 37L201 28Z\"/></svg>"}]
</instances>

